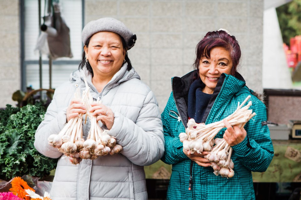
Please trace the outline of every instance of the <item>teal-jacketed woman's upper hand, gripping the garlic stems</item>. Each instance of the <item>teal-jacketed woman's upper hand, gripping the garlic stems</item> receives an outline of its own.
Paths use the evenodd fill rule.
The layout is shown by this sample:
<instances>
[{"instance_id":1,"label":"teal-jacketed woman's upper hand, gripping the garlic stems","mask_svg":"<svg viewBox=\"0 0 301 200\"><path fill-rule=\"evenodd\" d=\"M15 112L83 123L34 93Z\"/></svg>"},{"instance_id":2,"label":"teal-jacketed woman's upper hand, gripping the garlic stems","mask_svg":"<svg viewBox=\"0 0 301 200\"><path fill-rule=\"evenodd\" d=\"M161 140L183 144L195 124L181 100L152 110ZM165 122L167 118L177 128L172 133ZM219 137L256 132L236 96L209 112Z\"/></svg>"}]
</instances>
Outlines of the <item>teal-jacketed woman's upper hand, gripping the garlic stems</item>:
<instances>
[{"instance_id":1,"label":"teal-jacketed woman's upper hand, gripping the garlic stems","mask_svg":"<svg viewBox=\"0 0 301 200\"><path fill-rule=\"evenodd\" d=\"M240 129L237 125L232 127L226 119L223 122L227 128L224 139L230 146L234 146L246 138L247 132L244 128Z\"/></svg>"}]
</instances>

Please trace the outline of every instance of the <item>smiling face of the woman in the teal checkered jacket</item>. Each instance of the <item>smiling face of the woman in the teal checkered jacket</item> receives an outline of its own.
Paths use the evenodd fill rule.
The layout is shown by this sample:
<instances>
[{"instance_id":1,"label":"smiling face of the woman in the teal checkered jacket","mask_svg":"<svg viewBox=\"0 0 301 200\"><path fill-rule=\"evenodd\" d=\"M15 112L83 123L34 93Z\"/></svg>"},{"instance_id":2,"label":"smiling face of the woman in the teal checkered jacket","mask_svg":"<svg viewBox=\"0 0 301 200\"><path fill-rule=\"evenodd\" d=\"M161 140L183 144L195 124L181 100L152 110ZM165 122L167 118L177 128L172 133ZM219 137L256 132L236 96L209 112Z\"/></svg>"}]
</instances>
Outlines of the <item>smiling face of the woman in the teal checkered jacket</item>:
<instances>
[{"instance_id":1,"label":"smiling face of the woman in the teal checkered jacket","mask_svg":"<svg viewBox=\"0 0 301 200\"><path fill-rule=\"evenodd\" d=\"M222 73L230 74L232 59L230 52L222 47L214 47L210 51L210 58L203 56L200 59L199 75L206 85L203 92L212 94Z\"/></svg>"}]
</instances>

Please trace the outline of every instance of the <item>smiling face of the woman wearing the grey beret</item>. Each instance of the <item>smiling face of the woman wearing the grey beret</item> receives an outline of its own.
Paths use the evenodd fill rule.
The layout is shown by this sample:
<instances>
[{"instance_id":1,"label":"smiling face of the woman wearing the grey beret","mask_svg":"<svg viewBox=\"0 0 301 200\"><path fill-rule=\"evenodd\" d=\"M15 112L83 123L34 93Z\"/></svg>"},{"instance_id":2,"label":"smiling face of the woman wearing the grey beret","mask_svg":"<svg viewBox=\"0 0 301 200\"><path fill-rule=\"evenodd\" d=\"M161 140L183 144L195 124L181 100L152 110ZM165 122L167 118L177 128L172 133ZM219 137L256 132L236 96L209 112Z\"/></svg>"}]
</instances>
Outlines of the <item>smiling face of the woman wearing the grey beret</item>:
<instances>
[{"instance_id":1,"label":"smiling face of the woman wearing the grey beret","mask_svg":"<svg viewBox=\"0 0 301 200\"><path fill-rule=\"evenodd\" d=\"M121 37L114 32L95 33L84 50L93 75L97 77L112 78L121 68L125 57Z\"/></svg>"}]
</instances>

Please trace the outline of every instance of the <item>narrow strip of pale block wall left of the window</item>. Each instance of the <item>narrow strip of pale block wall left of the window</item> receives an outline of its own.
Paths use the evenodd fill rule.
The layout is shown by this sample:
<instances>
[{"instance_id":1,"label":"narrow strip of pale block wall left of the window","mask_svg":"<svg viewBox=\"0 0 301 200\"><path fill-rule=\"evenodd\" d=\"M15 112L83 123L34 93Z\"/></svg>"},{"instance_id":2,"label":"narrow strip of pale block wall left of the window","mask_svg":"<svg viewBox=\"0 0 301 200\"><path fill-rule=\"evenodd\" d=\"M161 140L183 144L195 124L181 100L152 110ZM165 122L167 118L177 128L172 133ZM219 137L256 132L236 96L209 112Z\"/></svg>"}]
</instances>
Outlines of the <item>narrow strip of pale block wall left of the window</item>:
<instances>
[{"instance_id":1,"label":"narrow strip of pale block wall left of the window","mask_svg":"<svg viewBox=\"0 0 301 200\"><path fill-rule=\"evenodd\" d=\"M20 89L18 0L0 0L0 24L0 108L4 108L6 104L17 103L12 94Z\"/></svg>"}]
</instances>

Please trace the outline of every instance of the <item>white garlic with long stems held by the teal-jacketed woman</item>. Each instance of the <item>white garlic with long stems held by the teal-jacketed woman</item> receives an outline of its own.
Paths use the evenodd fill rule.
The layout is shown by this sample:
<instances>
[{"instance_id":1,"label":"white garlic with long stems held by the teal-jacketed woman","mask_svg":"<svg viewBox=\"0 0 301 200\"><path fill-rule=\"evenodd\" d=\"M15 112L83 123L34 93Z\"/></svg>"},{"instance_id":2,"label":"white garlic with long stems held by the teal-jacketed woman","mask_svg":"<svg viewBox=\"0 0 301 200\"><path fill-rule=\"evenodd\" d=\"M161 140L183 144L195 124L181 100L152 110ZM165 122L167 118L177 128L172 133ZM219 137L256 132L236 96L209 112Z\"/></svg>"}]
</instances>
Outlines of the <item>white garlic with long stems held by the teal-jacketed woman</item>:
<instances>
[{"instance_id":1,"label":"white garlic with long stems held by the teal-jacketed woman","mask_svg":"<svg viewBox=\"0 0 301 200\"><path fill-rule=\"evenodd\" d=\"M250 98L251 96L248 96L241 104L238 102L236 110L225 118L231 126L238 125L243 128L256 115L256 113L252 113L252 110L249 110L252 105L251 101L243 107ZM223 128L225 128L223 120L205 125L204 123L196 123L194 119L189 119L186 133L180 133L179 138L183 143L183 149L186 151L191 153L210 152L204 157L210 161L214 174L231 178L234 176L234 163L231 159L232 148L223 138L214 139ZM213 146L214 143L215 146Z\"/></svg>"}]
</instances>

